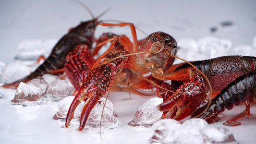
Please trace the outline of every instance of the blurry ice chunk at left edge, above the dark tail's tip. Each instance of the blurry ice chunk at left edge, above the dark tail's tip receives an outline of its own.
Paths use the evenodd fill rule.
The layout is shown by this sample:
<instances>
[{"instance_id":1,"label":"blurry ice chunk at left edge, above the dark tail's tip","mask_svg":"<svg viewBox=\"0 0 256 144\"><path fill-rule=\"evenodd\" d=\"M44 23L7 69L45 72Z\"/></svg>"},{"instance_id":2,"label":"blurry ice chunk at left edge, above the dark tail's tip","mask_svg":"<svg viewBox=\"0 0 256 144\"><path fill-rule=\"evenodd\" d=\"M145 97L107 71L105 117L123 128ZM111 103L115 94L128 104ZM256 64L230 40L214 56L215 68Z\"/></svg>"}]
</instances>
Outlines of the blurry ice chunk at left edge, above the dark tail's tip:
<instances>
[{"instance_id":1,"label":"blurry ice chunk at left edge, above the dark tail's tip","mask_svg":"<svg viewBox=\"0 0 256 144\"><path fill-rule=\"evenodd\" d=\"M1 73L4 83L12 83L30 74L28 67L20 60L7 63Z\"/></svg>"}]
</instances>

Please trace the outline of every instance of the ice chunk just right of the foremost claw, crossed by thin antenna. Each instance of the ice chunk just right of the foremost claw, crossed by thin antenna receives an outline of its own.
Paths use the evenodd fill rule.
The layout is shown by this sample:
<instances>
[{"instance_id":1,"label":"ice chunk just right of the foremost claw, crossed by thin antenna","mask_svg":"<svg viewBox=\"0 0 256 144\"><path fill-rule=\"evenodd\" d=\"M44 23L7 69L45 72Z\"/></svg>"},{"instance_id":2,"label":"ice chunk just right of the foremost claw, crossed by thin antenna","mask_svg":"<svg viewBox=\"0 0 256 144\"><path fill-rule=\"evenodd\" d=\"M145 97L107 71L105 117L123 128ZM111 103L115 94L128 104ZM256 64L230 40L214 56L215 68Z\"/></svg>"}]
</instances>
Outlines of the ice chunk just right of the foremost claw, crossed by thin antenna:
<instances>
[{"instance_id":1,"label":"ice chunk just right of the foremost claw, crossed by thin antenna","mask_svg":"<svg viewBox=\"0 0 256 144\"><path fill-rule=\"evenodd\" d=\"M114 108L113 104L110 102L110 100L107 100L107 103L105 105L103 115L101 118L101 113L102 113L102 109L105 101L106 101L106 98L102 97L98 101L96 106L94 106L94 108L89 114L88 120L86 121L87 126L99 127L100 119L102 119L101 126L103 129L111 129L119 125L116 115L113 112L113 108Z\"/></svg>"}]
</instances>

